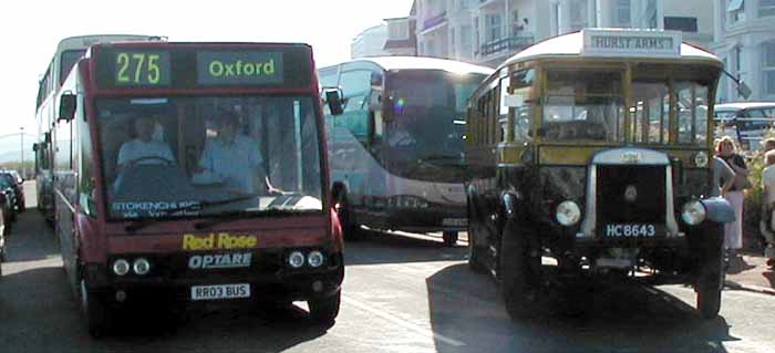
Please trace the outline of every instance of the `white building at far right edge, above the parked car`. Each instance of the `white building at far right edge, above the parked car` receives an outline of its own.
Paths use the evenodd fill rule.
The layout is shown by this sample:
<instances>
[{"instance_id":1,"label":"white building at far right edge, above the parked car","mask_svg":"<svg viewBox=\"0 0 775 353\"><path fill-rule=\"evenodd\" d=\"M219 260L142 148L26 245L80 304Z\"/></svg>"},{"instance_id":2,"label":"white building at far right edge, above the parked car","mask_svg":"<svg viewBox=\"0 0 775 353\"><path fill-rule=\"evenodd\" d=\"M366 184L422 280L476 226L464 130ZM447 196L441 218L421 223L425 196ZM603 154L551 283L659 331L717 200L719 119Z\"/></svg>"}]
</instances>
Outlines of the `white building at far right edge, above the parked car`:
<instances>
[{"instance_id":1,"label":"white building at far right edge, above the parked car","mask_svg":"<svg viewBox=\"0 0 775 353\"><path fill-rule=\"evenodd\" d=\"M775 0L712 0L715 18L712 50L726 70L752 90L748 101L775 101ZM724 77L720 102L743 101Z\"/></svg>"}]
</instances>

